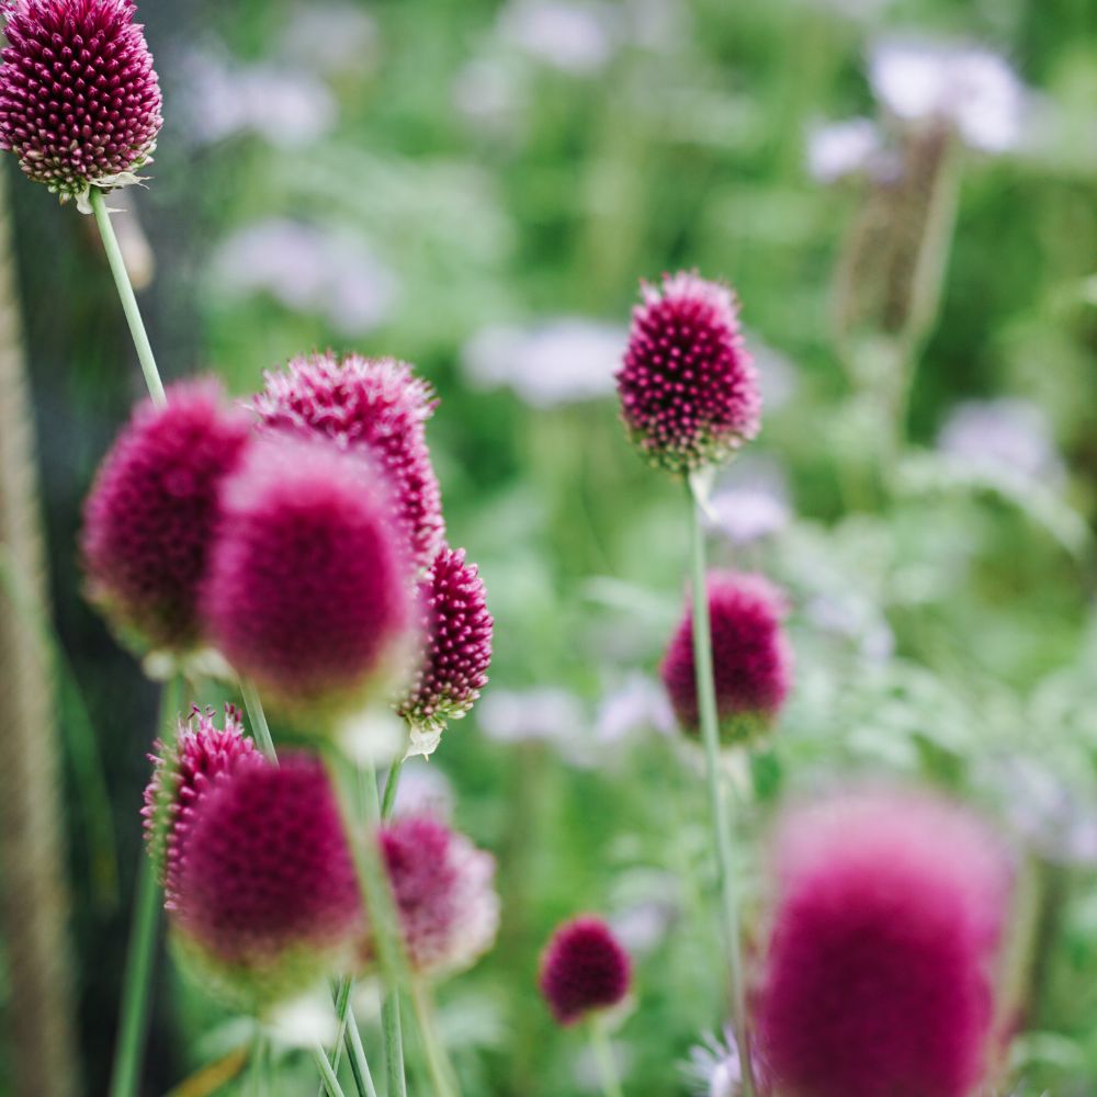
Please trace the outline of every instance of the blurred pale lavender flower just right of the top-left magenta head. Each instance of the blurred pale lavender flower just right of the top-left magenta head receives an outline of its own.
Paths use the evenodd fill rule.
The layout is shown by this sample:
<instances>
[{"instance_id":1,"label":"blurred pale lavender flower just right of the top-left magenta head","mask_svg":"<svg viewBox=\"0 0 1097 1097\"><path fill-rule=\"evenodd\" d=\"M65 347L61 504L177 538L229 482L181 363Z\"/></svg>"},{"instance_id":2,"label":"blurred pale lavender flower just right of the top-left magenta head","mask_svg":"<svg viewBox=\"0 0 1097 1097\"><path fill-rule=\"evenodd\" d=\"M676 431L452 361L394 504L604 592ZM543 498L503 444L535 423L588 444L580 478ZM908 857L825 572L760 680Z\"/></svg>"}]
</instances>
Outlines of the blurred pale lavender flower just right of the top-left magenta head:
<instances>
[{"instance_id":1,"label":"blurred pale lavender flower just right of the top-left magenta head","mask_svg":"<svg viewBox=\"0 0 1097 1097\"><path fill-rule=\"evenodd\" d=\"M253 133L280 148L299 148L324 136L338 113L331 92L312 73L240 65L220 50L186 57L179 98L200 145Z\"/></svg>"}]
</instances>

